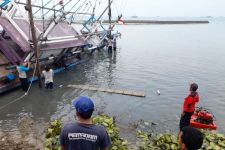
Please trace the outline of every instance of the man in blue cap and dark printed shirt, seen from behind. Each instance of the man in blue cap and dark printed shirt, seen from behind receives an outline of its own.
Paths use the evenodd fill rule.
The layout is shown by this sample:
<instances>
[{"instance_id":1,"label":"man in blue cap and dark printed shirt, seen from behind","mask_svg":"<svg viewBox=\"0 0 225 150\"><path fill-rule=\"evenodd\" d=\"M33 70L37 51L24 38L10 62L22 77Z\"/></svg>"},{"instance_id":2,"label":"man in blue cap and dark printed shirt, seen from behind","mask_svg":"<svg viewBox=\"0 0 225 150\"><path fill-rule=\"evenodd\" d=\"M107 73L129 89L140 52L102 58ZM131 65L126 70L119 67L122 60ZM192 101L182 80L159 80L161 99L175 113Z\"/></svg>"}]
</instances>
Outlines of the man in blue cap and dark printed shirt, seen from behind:
<instances>
[{"instance_id":1,"label":"man in blue cap and dark printed shirt, seen from behind","mask_svg":"<svg viewBox=\"0 0 225 150\"><path fill-rule=\"evenodd\" d=\"M72 101L78 122L65 125L61 131L62 150L108 150L110 139L105 127L94 125L91 116L94 103L85 96Z\"/></svg>"}]
</instances>

